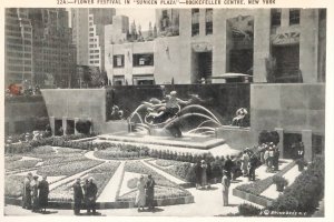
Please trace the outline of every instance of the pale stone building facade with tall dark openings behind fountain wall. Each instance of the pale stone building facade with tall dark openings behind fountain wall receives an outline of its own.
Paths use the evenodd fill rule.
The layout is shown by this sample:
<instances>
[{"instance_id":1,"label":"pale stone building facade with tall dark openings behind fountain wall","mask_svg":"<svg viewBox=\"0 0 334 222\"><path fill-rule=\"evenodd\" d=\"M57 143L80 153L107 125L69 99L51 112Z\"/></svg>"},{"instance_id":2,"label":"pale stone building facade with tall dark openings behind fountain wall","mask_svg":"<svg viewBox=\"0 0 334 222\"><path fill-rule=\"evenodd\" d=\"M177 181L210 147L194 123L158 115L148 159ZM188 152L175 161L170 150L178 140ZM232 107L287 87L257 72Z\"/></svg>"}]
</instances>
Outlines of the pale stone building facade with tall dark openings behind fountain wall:
<instances>
[{"instance_id":1,"label":"pale stone building facade with tall dark openings behind fountain wall","mask_svg":"<svg viewBox=\"0 0 334 222\"><path fill-rule=\"evenodd\" d=\"M225 73L247 74L253 82L324 81L325 10L159 9L156 14L154 41L106 46L109 82L242 81Z\"/></svg>"}]
</instances>

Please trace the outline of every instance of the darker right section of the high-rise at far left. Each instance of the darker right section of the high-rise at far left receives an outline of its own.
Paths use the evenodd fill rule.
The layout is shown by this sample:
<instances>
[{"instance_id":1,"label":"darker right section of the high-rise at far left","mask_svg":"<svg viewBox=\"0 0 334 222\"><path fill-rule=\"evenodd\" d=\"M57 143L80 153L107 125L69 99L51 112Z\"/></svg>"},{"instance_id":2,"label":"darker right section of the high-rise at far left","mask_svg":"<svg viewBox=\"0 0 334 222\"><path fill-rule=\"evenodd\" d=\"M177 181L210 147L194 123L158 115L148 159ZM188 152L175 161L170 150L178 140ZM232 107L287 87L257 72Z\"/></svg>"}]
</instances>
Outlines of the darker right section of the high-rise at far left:
<instances>
[{"instance_id":1,"label":"darker right section of the high-rise at far left","mask_svg":"<svg viewBox=\"0 0 334 222\"><path fill-rule=\"evenodd\" d=\"M70 87L76 51L65 9L30 9L33 36L33 74L37 84Z\"/></svg>"}]
</instances>

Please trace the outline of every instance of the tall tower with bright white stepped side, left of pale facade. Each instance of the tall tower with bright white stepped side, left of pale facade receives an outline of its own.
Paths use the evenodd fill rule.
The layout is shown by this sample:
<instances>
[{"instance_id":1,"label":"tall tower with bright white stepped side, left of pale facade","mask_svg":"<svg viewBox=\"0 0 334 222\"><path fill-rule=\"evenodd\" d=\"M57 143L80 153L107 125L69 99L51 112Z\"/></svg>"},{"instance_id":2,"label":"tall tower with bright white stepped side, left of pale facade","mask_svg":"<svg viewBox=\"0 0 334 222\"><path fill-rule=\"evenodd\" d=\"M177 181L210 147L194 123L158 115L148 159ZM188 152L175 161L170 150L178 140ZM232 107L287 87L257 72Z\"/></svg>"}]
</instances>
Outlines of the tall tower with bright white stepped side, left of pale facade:
<instances>
[{"instance_id":1,"label":"tall tower with bright white stepped side, left of pale facade","mask_svg":"<svg viewBox=\"0 0 334 222\"><path fill-rule=\"evenodd\" d=\"M77 64L105 69L105 26L112 23L115 9L72 9Z\"/></svg>"}]
</instances>

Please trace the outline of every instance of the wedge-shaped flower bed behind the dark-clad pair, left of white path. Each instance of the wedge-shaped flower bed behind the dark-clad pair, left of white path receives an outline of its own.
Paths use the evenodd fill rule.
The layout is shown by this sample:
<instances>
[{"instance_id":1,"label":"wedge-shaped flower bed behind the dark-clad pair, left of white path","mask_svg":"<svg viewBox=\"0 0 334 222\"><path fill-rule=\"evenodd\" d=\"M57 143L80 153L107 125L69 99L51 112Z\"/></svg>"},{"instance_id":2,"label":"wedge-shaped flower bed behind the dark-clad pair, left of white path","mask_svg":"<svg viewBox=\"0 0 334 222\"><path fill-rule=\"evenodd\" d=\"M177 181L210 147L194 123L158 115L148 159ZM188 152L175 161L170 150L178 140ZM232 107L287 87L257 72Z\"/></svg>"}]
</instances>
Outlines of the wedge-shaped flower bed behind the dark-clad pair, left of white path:
<instances>
[{"instance_id":1,"label":"wedge-shaped flower bed behind the dark-clad pair, left of white path","mask_svg":"<svg viewBox=\"0 0 334 222\"><path fill-rule=\"evenodd\" d=\"M117 168L119 167L120 162L107 162L91 171L89 171L85 176L82 176L82 184L85 179L89 179L92 176L95 179L95 183L98 188L97 196L101 194L112 175L115 174ZM50 201L72 201L73 199L73 190L72 190L73 182L62 184L50 192L49 200Z\"/></svg>"}]
</instances>

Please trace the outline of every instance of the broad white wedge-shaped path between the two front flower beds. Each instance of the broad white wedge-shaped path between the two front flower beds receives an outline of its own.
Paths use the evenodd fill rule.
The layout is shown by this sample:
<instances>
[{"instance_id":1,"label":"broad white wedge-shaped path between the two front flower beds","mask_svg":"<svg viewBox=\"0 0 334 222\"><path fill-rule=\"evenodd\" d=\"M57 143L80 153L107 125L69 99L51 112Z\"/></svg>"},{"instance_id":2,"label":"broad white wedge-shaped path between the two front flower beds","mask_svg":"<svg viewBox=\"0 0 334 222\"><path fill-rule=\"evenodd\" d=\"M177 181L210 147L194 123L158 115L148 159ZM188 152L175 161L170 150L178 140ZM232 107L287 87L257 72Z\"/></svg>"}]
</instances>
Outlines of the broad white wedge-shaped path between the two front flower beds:
<instances>
[{"instance_id":1,"label":"broad white wedge-shaped path between the two front flower beds","mask_svg":"<svg viewBox=\"0 0 334 222\"><path fill-rule=\"evenodd\" d=\"M121 161L117 168L115 174L105 186L104 191L97 199L97 202L115 202L117 199L117 192L122 182L124 167L126 161Z\"/></svg>"}]
</instances>

